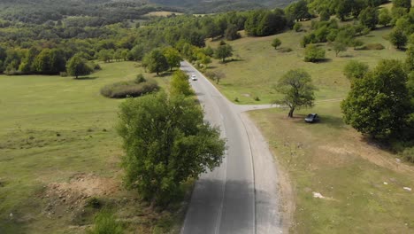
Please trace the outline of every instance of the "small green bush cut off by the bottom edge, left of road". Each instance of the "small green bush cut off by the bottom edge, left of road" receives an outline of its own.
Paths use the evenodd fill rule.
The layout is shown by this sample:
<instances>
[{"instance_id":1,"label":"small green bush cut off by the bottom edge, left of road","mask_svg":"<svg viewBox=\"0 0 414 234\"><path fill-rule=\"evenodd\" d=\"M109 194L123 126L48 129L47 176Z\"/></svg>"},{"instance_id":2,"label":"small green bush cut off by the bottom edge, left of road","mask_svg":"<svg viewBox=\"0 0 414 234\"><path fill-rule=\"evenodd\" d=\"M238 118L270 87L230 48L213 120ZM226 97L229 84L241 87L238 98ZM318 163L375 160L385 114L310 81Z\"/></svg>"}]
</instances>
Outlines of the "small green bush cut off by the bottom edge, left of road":
<instances>
[{"instance_id":1,"label":"small green bush cut off by the bottom edge, left of road","mask_svg":"<svg viewBox=\"0 0 414 234\"><path fill-rule=\"evenodd\" d=\"M121 222L115 219L115 216L107 210L96 214L94 227L87 231L88 234L122 234L124 228Z\"/></svg>"}]
</instances>

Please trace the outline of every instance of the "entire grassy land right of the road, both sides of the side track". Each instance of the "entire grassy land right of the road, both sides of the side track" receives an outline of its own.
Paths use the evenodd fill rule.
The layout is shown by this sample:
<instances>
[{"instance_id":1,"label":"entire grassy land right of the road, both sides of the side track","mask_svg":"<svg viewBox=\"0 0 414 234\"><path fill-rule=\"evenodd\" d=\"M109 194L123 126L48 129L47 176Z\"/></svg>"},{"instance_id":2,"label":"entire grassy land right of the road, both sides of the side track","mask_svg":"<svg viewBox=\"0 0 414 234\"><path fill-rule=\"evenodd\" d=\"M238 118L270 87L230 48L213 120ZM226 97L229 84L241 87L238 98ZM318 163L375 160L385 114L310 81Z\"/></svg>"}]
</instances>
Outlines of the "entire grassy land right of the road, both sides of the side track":
<instances>
[{"instance_id":1,"label":"entire grassy land right of the road, both sides of the side track","mask_svg":"<svg viewBox=\"0 0 414 234\"><path fill-rule=\"evenodd\" d=\"M303 25L310 30L310 22ZM238 98L239 104L271 103L278 98L272 87L294 68L309 72L318 87L316 105L296 111L295 119L287 118L286 109L249 113L279 166L285 214L294 233L414 232L414 193L410 191L414 189L414 166L344 124L340 108L349 91L342 70L350 59L374 67L381 58L405 58L403 51L396 51L384 39L390 30L379 28L358 38L365 44L383 44L381 51L349 48L335 57L329 46L320 44L328 59L317 64L303 62L300 40L304 32L244 37L228 42L234 47L235 61L211 64L211 70L226 74L216 86L229 100ZM275 37L280 38L281 48L293 51L274 50ZM209 43L212 47L218 44ZM307 113L318 113L321 121L304 123Z\"/></svg>"}]
</instances>

